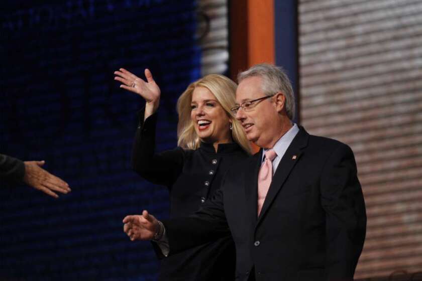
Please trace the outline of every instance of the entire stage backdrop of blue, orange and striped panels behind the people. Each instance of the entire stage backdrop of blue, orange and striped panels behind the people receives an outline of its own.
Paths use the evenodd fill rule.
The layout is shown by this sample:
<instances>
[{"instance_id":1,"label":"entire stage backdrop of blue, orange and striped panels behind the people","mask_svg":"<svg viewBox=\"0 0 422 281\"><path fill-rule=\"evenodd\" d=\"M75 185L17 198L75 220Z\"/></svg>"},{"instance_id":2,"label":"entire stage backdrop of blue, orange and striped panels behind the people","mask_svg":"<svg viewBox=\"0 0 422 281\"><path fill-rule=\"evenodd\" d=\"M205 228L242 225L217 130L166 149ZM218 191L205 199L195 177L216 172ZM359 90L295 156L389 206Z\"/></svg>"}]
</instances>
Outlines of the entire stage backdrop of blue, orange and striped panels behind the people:
<instances>
[{"instance_id":1,"label":"entire stage backdrop of blue, orange and striped panels behind the people","mask_svg":"<svg viewBox=\"0 0 422 281\"><path fill-rule=\"evenodd\" d=\"M283 66L296 120L354 150L368 211L355 277L420 278L421 11L419 0L3 4L0 153L46 160L73 192L54 200L0 183L0 279L155 279L151 246L130 242L121 220L144 208L166 217L168 194L131 170L143 100L113 71L152 70L163 150L176 144L178 95L227 73L228 59L234 79L255 63Z\"/></svg>"}]
</instances>

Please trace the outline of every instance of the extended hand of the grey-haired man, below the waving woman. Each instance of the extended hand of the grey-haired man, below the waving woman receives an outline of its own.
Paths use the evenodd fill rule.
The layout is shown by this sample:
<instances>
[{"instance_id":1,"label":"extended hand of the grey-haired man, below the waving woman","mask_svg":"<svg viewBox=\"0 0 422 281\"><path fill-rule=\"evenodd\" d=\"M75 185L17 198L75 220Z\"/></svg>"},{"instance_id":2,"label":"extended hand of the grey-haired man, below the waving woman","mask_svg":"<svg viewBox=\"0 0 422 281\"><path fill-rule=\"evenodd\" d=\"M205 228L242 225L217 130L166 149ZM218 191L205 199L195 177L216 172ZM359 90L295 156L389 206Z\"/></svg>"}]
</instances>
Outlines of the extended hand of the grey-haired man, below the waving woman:
<instances>
[{"instance_id":1,"label":"extended hand of the grey-haired man, below the waving woman","mask_svg":"<svg viewBox=\"0 0 422 281\"><path fill-rule=\"evenodd\" d=\"M142 215L126 216L123 219L123 230L134 240L152 240L158 230L158 220L144 210Z\"/></svg>"}]
</instances>

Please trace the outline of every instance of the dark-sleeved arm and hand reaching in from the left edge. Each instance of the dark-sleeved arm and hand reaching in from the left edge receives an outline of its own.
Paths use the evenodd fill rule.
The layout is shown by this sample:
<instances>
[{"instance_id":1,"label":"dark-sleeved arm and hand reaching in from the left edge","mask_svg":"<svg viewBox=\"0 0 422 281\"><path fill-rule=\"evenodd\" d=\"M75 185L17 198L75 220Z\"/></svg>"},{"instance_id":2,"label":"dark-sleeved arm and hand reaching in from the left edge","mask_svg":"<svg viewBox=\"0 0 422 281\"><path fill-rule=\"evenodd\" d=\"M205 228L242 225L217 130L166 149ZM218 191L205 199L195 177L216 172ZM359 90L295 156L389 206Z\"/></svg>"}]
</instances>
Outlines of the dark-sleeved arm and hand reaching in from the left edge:
<instances>
[{"instance_id":1,"label":"dark-sleeved arm and hand reaching in from the left edge","mask_svg":"<svg viewBox=\"0 0 422 281\"><path fill-rule=\"evenodd\" d=\"M3 182L14 184L24 182L54 198L59 197L55 192L70 192L66 182L41 168L44 163L44 161L23 162L0 154L0 181L2 185Z\"/></svg>"}]
</instances>

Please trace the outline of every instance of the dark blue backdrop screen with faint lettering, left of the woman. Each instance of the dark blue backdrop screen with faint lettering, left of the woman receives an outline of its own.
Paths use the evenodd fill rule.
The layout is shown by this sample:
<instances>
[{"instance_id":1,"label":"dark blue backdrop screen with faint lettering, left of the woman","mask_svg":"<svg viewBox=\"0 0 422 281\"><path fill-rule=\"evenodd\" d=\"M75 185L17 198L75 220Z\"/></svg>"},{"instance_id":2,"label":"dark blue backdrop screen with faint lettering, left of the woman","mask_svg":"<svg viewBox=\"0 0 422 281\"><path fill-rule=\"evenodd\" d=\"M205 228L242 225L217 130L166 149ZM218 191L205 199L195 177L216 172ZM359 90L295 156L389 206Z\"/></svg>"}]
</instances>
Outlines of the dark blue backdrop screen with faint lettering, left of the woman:
<instances>
[{"instance_id":1,"label":"dark blue backdrop screen with faint lettering, left of the woman","mask_svg":"<svg viewBox=\"0 0 422 281\"><path fill-rule=\"evenodd\" d=\"M195 2L14 1L0 11L0 153L45 160L72 192L0 188L0 279L155 279L148 242L122 219L168 216L168 193L130 164L143 99L115 70L161 87L157 149L176 146L175 101L199 77Z\"/></svg>"}]
</instances>

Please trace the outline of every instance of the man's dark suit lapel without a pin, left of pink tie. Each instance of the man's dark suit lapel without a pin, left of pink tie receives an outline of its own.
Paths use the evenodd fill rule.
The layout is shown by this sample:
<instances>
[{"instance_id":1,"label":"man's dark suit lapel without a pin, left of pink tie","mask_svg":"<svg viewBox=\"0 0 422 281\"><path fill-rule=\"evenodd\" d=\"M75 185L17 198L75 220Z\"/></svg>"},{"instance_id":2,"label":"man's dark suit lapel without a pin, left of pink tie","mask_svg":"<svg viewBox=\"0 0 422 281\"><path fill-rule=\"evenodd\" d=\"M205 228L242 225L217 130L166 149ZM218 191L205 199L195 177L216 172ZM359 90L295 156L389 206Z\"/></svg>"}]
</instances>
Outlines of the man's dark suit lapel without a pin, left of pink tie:
<instances>
[{"instance_id":1,"label":"man's dark suit lapel without a pin, left of pink tie","mask_svg":"<svg viewBox=\"0 0 422 281\"><path fill-rule=\"evenodd\" d=\"M262 149L254 154L245 171L245 194L247 210L252 221L256 221L258 216L258 173L261 167Z\"/></svg>"}]
</instances>

